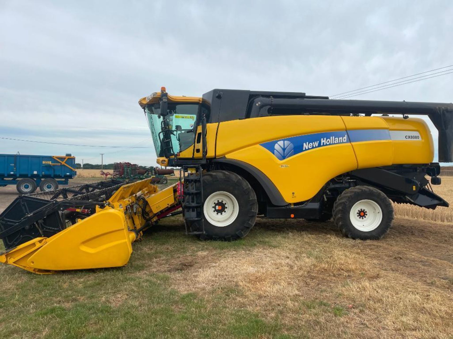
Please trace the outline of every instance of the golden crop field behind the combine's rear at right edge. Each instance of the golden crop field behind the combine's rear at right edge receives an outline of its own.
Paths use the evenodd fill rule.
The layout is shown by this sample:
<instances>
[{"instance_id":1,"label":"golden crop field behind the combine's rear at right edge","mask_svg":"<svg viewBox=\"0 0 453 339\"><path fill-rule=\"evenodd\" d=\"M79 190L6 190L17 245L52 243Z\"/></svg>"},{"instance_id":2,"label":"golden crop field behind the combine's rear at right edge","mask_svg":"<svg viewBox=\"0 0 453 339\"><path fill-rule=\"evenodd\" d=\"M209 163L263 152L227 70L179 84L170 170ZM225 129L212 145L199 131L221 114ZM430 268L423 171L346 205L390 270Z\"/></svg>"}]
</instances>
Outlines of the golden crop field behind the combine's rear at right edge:
<instances>
[{"instance_id":1,"label":"golden crop field behind the combine's rear at right edge","mask_svg":"<svg viewBox=\"0 0 453 339\"><path fill-rule=\"evenodd\" d=\"M409 204L395 204L395 217L423 219L453 223L453 177L443 176L442 184L433 186L434 193L447 200L450 207L437 207L435 210Z\"/></svg>"}]
</instances>

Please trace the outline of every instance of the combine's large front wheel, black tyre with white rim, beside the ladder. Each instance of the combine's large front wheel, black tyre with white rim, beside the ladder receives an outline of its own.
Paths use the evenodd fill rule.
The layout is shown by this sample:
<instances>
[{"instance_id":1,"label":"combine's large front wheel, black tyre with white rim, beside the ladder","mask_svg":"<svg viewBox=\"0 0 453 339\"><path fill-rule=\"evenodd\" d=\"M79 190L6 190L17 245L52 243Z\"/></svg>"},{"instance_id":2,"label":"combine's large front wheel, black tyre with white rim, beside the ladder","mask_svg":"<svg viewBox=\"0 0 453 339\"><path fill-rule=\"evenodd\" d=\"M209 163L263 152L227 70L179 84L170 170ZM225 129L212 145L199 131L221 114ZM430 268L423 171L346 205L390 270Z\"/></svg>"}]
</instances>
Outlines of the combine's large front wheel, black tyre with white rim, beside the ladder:
<instances>
[{"instance_id":1,"label":"combine's large front wheel, black tyre with white rim, beside the ladder","mask_svg":"<svg viewBox=\"0 0 453 339\"><path fill-rule=\"evenodd\" d=\"M200 239L236 240L255 225L258 202L246 179L229 171L203 174L205 234Z\"/></svg>"}]
</instances>

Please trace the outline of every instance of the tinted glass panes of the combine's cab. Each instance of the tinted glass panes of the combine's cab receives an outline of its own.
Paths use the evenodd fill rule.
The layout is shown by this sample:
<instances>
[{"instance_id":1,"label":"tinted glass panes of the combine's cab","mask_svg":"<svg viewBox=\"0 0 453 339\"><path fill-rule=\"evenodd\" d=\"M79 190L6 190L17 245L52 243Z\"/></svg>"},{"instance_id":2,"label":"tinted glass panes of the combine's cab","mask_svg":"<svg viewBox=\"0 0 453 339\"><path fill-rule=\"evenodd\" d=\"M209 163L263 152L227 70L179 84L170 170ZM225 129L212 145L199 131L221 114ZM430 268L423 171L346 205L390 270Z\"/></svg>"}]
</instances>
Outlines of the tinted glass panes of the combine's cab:
<instances>
[{"instance_id":1,"label":"tinted glass panes of the combine's cab","mask_svg":"<svg viewBox=\"0 0 453 339\"><path fill-rule=\"evenodd\" d=\"M173 130L171 141L173 145L173 154L184 151L193 145L195 141L198 104L178 104L168 103L167 121L169 129ZM151 104L145 107L146 120L153 137L156 156L164 156L162 145L159 139L159 133L162 130L162 116L160 115L160 104ZM162 134L160 134L162 138Z\"/></svg>"}]
</instances>

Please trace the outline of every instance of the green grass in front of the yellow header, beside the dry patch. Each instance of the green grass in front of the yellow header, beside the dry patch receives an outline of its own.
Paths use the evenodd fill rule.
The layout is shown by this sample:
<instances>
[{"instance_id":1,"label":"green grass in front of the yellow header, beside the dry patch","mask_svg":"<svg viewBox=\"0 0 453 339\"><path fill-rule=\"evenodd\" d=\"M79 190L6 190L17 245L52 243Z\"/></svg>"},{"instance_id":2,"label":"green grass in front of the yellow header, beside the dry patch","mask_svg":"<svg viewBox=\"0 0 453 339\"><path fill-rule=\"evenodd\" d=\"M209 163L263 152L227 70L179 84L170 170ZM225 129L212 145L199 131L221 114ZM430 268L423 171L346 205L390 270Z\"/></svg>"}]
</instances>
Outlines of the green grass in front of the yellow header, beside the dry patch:
<instances>
[{"instance_id":1,"label":"green grass in front of the yellow header, beside the dry patch","mask_svg":"<svg viewBox=\"0 0 453 339\"><path fill-rule=\"evenodd\" d=\"M202 297L171 288L169 274L150 272L156 258L219 255L271 240L202 242L184 235L178 219L165 224L134 244L123 268L40 276L2 265L0 338L290 338L278 319L230 306L240 289Z\"/></svg>"}]
</instances>

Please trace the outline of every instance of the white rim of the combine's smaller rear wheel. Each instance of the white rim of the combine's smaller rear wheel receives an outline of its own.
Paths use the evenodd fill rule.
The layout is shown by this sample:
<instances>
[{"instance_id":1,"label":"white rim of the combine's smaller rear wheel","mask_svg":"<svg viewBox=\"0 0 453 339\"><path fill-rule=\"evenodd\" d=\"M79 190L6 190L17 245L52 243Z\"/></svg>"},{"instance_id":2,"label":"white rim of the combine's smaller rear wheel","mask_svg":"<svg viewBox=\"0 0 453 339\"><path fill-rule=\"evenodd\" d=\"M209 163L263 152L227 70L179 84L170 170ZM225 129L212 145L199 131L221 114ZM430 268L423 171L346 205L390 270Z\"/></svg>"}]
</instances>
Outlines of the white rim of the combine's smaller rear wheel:
<instances>
[{"instance_id":1,"label":"white rim of the combine's smaller rear wheel","mask_svg":"<svg viewBox=\"0 0 453 339\"><path fill-rule=\"evenodd\" d=\"M354 204L349 212L352 226L362 232L376 229L382 221L381 206L373 200L360 200Z\"/></svg>"}]
</instances>

